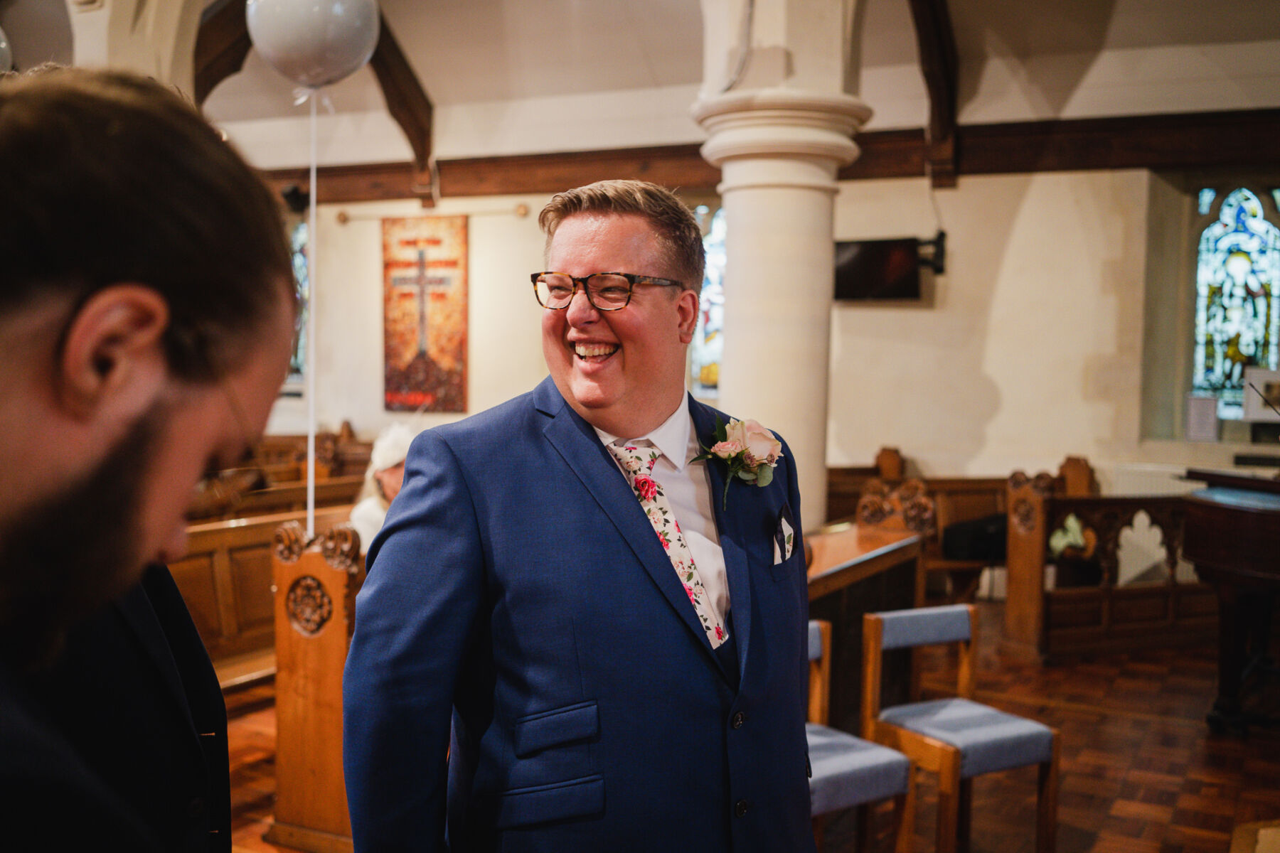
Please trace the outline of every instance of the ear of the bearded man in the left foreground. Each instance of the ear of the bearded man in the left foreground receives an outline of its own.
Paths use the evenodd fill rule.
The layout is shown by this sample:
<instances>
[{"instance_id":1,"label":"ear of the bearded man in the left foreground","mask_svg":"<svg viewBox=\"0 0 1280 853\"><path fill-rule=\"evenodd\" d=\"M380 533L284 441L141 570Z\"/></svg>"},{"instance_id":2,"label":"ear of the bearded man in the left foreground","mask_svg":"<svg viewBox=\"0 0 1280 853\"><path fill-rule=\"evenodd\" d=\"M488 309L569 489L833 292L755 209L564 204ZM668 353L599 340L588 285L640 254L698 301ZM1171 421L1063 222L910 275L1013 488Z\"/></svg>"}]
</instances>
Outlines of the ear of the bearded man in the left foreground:
<instances>
[{"instance_id":1,"label":"ear of the bearded man in the left foreground","mask_svg":"<svg viewBox=\"0 0 1280 853\"><path fill-rule=\"evenodd\" d=\"M99 290L72 318L58 361L59 402L78 418L104 409L143 411L168 379L161 335L169 304L151 288Z\"/></svg>"}]
</instances>

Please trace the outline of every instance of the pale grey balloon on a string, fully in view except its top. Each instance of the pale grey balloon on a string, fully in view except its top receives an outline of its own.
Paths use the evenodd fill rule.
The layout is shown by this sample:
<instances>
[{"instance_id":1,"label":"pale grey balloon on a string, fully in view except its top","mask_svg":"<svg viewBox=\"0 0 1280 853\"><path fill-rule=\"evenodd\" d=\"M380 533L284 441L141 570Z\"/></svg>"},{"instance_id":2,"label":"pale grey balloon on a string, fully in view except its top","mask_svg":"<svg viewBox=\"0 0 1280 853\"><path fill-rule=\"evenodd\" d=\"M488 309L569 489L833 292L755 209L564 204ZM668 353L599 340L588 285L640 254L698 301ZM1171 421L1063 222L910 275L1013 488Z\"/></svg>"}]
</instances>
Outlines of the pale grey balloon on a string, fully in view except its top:
<instances>
[{"instance_id":1,"label":"pale grey balloon on a string, fully in view except its top","mask_svg":"<svg viewBox=\"0 0 1280 853\"><path fill-rule=\"evenodd\" d=\"M369 61L378 46L376 0L248 0L253 47L294 83L337 83Z\"/></svg>"}]
</instances>

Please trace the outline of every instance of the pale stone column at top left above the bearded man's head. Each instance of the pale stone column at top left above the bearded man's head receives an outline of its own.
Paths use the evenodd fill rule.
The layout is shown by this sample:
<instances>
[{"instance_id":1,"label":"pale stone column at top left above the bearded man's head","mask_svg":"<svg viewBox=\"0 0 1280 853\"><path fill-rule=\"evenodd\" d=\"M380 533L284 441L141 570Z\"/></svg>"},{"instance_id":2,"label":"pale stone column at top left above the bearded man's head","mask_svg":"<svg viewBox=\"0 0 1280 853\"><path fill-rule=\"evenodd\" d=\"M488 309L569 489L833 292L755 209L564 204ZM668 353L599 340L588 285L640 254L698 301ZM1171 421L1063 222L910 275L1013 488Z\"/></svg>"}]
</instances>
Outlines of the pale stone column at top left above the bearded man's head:
<instances>
[{"instance_id":1,"label":"pale stone column at top left above the bearded man's head","mask_svg":"<svg viewBox=\"0 0 1280 853\"><path fill-rule=\"evenodd\" d=\"M65 0L76 65L127 68L192 95L207 0Z\"/></svg>"}]
</instances>

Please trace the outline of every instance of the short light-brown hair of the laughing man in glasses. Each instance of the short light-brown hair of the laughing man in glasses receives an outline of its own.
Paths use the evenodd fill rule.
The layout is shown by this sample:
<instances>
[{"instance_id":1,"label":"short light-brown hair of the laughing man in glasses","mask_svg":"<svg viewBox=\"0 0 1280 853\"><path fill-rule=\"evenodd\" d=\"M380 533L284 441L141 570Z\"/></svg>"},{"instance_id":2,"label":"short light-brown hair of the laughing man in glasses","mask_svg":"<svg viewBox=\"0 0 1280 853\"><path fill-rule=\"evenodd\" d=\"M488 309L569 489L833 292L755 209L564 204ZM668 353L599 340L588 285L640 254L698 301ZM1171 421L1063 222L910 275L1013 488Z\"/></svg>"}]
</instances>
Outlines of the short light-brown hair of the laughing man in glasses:
<instances>
[{"instance_id":1,"label":"short light-brown hair of the laughing man in glasses","mask_svg":"<svg viewBox=\"0 0 1280 853\"><path fill-rule=\"evenodd\" d=\"M680 272L681 286L701 293L707 265L703 231L692 211L666 187L646 180L598 180L552 196L538 215L538 224L547 233L547 249L559 224L577 214L634 215L649 220L666 251L666 260Z\"/></svg>"}]
</instances>

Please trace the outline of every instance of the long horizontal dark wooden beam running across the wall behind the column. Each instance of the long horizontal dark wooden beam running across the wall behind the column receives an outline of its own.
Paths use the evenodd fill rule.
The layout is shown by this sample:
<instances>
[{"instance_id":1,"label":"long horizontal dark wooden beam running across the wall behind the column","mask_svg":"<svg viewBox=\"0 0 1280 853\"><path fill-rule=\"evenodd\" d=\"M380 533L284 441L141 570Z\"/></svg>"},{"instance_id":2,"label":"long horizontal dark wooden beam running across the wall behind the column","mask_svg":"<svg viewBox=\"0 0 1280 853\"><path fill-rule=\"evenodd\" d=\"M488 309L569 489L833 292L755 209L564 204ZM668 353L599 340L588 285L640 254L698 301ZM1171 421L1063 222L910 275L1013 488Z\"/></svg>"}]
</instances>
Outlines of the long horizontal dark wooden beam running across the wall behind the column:
<instances>
[{"instance_id":1,"label":"long horizontal dark wooden beam running across the wall behind the column","mask_svg":"<svg viewBox=\"0 0 1280 853\"><path fill-rule=\"evenodd\" d=\"M1280 168L1280 110L979 124L956 128L960 174L1085 169ZM841 180L925 174L924 130L878 130L856 137L861 155ZM442 196L554 193L604 178L643 178L672 188L713 189L719 170L696 145L442 160ZM317 178L323 203L421 197L411 162L326 166ZM266 174L275 185L306 185L306 169Z\"/></svg>"}]
</instances>

